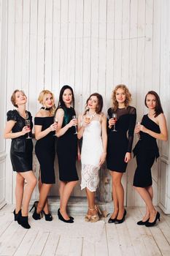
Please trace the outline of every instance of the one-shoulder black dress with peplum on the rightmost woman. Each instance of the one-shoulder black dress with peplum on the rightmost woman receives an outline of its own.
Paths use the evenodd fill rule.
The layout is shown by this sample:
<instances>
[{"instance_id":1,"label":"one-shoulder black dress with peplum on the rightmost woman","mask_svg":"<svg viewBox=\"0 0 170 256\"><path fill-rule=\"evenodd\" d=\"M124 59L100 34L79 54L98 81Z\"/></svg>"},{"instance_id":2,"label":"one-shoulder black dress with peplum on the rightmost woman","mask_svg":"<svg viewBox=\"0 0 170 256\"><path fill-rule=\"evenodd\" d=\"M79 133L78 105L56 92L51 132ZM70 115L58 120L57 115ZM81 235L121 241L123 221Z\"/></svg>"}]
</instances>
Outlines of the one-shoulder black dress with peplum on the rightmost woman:
<instances>
[{"instance_id":1,"label":"one-shoulder black dress with peplum on the rightmost woman","mask_svg":"<svg viewBox=\"0 0 170 256\"><path fill-rule=\"evenodd\" d=\"M143 116L141 124L143 124L147 129L150 129L152 132L161 132L158 124L152 121L147 115ZM137 163L134 174L134 186L152 186L151 167L155 159L159 157L156 139L145 132L140 132L140 140L136 143L133 152L134 157L136 156Z\"/></svg>"}]
</instances>

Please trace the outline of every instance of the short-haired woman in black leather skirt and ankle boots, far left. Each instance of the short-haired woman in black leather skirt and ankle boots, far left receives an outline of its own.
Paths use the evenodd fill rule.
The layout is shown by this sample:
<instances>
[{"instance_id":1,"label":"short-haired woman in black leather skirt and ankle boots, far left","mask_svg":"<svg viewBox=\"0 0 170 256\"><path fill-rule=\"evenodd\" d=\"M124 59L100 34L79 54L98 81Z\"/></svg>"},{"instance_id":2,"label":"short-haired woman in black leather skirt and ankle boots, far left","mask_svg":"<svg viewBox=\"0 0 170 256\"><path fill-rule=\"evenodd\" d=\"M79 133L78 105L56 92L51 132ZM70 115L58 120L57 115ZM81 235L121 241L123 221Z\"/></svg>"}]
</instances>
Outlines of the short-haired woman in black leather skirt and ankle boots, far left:
<instances>
[{"instance_id":1,"label":"short-haired woman in black leather skirt and ankle boots, far left","mask_svg":"<svg viewBox=\"0 0 170 256\"><path fill-rule=\"evenodd\" d=\"M12 139L10 158L12 169L17 172L15 187L14 217L20 225L30 228L28 224L28 206L36 186L36 177L32 171L33 143L31 129L33 127L31 113L26 110L27 97L23 91L15 90L11 97L12 104L17 110L9 110L4 138ZM29 120L30 126L26 125ZM25 185L26 180L26 185ZM21 210L22 208L22 210Z\"/></svg>"}]
</instances>

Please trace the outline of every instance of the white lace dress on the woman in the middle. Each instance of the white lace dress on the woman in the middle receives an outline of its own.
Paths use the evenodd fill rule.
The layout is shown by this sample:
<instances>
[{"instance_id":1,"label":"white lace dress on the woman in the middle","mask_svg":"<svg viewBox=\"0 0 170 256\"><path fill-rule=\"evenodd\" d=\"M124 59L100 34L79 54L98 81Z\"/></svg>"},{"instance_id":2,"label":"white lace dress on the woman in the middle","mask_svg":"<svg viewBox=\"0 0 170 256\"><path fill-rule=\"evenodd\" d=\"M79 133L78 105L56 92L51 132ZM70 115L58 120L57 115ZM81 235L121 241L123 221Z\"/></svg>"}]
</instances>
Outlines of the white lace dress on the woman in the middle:
<instances>
[{"instance_id":1,"label":"white lace dress on the woman in the middle","mask_svg":"<svg viewBox=\"0 0 170 256\"><path fill-rule=\"evenodd\" d=\"M91 120L85 127L82 138L82 181L81 189L87 187L90 192L95 192L98 186L99 161L103 152L101 140L101 122Z\"/></svg>"}]
</instances>

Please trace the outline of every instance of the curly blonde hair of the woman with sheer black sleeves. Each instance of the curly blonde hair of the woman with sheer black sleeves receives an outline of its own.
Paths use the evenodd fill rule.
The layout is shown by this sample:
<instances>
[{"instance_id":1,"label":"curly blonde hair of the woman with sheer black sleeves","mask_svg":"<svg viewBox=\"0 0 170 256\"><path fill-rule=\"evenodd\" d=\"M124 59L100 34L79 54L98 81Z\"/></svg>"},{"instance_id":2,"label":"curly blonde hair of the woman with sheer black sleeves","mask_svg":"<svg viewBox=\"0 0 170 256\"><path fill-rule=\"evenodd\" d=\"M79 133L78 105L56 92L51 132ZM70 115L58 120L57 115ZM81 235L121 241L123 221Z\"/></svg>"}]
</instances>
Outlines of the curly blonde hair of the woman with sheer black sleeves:
<instances>
[{"instance_id":1,"label":"curly blonde hair of the woman with sheer black sleeves","mask_svg":"<svg viewBox=\"0 0 170 256\"><path fill-rule=\"evenodd\" d=\"M130 93L130 91L128 91L127 86L125 86L124 84L118 84L115 87L115 89L112 91L112 108L113 108L113 110L117 110L117 108L118 108L118 102L116 100L117 89L123 89L123 91L125 92L125 108L127 108L131 102L131 93Z\"/></svg>"}]
</instances>

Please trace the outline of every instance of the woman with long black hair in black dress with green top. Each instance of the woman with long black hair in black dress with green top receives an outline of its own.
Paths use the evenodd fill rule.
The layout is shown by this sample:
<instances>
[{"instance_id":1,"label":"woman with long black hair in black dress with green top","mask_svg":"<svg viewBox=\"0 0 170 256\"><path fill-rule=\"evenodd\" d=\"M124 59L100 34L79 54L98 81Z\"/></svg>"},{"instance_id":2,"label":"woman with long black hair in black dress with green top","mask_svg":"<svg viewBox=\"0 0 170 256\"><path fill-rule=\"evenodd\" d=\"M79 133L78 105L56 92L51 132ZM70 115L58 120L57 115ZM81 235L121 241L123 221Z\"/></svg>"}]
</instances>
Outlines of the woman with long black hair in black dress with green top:
<instances>
[{"instance_id":1,"label":"woman with long black hair in black dress with green top","mask_svg":"<svg viewBox=\"0 0 170 256\"><path fill-rule=\"evenodd\" d=\"M72 108L73 105L73 108ZM74 110L74 93L72 87L63 86L60 92L58 108L55 113L58 119L56 135L57 154L60 178L60 208L58 218L63 222L72 223L73 218L66 213L69 197L77 184L78 176L76 169L77 159L77 119Z\"/></svg>"}]
</instances>

